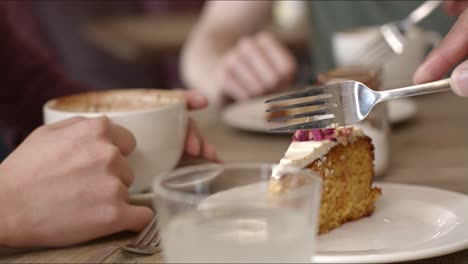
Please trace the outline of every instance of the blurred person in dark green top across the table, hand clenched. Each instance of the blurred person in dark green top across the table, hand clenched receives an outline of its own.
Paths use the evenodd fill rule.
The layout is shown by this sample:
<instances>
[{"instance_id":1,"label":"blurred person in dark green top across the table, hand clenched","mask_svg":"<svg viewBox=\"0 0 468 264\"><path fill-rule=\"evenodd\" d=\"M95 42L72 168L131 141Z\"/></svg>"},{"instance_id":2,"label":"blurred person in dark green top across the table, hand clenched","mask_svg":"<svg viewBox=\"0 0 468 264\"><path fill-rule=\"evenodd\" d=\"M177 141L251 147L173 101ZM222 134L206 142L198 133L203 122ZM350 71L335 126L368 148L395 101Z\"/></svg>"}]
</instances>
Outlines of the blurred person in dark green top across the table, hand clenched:
<instances>
[{"instance_id":1,"label":"blurred person in dark green top across the table, hand clenched","mask_svg":"<svg viewBox=\"0 0 468 264\"><path fill-rule=\"evenodd\" d=\"M330 46L334 32L403 19L422 2L307 2L313 25L315 74L334 67ZM444 1L444 7L465 4ZM215 104L272 93L291 84L298 71L296 58L263 30L271 22L272 6L272 1L208 2L183 49L185 84L203 92ZM454 21L439 7L421 26L444 36Z\"/></svg>"}]
</instances>

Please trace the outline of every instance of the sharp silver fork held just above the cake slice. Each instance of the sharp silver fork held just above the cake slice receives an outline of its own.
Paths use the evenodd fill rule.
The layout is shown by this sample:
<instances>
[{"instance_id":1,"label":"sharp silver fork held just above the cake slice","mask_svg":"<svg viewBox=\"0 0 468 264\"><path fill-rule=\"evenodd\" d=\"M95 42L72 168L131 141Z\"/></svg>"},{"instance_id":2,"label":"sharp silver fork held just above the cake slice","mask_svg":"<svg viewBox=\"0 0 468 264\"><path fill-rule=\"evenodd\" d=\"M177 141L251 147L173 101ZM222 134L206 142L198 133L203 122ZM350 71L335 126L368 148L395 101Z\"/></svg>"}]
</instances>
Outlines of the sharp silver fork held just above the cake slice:
<instances>
[{"instance_id":1,"label":"sharp silver fork held just above the cake slice","mask_svg":"<svg viewBox=\"0 0 468 264\"><path fill-rule=\"evenodd\" d=\"M279 96L269 99L265 101L265 103L275 103L272 104L272 108L266 110L267 112L284 110L295 112L295 114L269 119L269 121L288 122L295 121L295 119L296 121L299 120L292 125L270 129L271 132L285 132L326 128L332 124L338 126L355 124L366 118L372 108L378 103L400 97L448 91L450 87L450 78L448 78L420 85L377 92L360 82L342 81ZM295 99L297 101L298 98L304 99L304 101L292 104L287 103L287 100ZM282 102L282 105L277 106L277 102ZM318 109L308 111L310 107L316 107ZM301 108L306 110L302 112L298 111L301 110Z\"/></svg>"}]
</instances>

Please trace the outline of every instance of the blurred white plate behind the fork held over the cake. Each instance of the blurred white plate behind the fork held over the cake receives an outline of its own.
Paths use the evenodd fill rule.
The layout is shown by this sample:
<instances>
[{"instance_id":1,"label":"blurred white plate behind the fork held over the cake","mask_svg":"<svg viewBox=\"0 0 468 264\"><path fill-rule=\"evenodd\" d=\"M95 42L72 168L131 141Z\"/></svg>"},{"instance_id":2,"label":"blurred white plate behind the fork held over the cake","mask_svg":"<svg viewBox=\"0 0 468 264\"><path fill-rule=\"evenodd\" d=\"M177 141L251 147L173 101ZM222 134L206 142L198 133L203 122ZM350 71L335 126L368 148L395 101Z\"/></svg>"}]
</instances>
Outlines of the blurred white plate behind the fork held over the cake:
<instances>
[{"instance_id":1,"label":"blurred white plate behind the fork held over the cake","mask_svg":"<svg viewBox=\"0 0 468 264\"><path fill-rule=\"evenodd\" d=\"M270 126L266 119L264 102L272 97L274 95L234 103L223 111L223 120L238 129L266 133ZM411 99L403 98L388 102L388 114L392 124L407 121L413 118L416 112L416 104Z\"/></svg>"}]
</instances>

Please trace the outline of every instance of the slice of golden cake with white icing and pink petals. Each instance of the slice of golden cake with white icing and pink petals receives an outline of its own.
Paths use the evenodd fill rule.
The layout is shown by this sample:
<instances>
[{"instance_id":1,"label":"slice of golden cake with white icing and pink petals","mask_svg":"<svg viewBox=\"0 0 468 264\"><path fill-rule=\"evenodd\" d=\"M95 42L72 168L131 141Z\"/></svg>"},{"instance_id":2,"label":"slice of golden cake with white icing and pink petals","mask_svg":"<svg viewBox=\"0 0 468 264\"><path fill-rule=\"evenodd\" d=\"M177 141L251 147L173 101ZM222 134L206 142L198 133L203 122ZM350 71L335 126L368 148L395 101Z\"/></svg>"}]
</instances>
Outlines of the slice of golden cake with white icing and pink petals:
<instances>
[{"instance_id":1,"label":"slice of golden cake with white icing and pink petals","mask_svg":"<svg viewBox=\"0 0 468 264\"><path fill-rule=\"evenodd\" d=\"M319 234L324 234L372 214L381 195L372 187L373 160L371 139L357 127L297 131L274 174L284 167L301 167L322 177ZM270 193L287 192L290 185L287 176L273 175Z\"/></svg>"}]
</instances>

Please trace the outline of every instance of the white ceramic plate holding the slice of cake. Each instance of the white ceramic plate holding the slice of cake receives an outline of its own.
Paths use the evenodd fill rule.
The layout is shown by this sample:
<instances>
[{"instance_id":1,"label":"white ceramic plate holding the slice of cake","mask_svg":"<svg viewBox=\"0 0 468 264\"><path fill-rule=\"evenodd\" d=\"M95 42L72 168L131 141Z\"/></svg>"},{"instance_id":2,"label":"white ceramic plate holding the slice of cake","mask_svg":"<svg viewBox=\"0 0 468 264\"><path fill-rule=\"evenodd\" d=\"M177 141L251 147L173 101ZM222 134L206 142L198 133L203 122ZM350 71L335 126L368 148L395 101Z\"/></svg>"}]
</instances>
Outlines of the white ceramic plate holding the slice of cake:
<instances>
[{"instance_id":1,"label":"white ceramic plate holding the slice of cake","mask_svg":"<svg viewBox=\"0 0 468 264\"><path fill-rule=\"evenodd\" d=\"M383 263L430 258L468 248L468 195L377 183L370 217L318 237L317 263Z\"/></svg>"}]
</instances>

